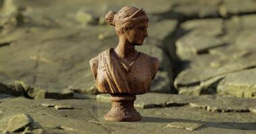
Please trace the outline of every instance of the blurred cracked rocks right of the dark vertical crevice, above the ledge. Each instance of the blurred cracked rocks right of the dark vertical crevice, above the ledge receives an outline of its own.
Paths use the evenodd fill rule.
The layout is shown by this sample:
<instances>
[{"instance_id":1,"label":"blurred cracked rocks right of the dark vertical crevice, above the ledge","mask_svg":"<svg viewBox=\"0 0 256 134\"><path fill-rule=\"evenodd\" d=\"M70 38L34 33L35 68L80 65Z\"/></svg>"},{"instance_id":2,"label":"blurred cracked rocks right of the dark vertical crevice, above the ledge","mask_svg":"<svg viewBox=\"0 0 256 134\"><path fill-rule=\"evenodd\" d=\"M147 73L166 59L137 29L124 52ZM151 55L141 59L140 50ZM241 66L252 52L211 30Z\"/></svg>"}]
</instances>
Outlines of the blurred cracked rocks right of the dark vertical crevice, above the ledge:
<instances>
[{"instance_id":1,"label":"blurred cracked rocks right of the dark vertical crevice, above the ledge","mask_svg":"<svg viewBox=\"0 0 256 134\"><path fill-rule=\"evenodd\" d=\"M251 87L256 84L254 75L247 75L253 73L256 66L253 19L255 15L243 15L181 24L183 36L177 39L176 46L184 63L174 80L179 94L255 97L255 89ZM232 79L236 81L231 87Z\"/></svg>"}]
</instances>

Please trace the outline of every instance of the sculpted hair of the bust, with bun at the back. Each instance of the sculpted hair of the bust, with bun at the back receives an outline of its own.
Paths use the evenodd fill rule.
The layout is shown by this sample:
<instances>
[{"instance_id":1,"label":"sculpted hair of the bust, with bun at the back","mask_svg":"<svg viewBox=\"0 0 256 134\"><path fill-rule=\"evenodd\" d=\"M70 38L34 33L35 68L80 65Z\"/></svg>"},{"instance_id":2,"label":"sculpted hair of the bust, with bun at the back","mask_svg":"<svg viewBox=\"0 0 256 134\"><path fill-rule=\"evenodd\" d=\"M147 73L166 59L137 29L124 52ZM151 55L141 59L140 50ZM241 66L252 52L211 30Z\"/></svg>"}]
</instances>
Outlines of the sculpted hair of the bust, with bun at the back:
<instances>
[{"instance_id":1,"label":"sculpted hair of the bust, with bun at the back","mask_svg":"<svg viewBox=\"0 0 256 134\"><path fill-rule=\"evenodd\" d=\"M126 6L118 13L115 11L108 11L105 16L105 20L109 25L115 26L117 34L119 34L120 32L123 32L124 27L130 28L141 21L148 21L148 17L143 9Z\"/></svg>"}]
</instances>

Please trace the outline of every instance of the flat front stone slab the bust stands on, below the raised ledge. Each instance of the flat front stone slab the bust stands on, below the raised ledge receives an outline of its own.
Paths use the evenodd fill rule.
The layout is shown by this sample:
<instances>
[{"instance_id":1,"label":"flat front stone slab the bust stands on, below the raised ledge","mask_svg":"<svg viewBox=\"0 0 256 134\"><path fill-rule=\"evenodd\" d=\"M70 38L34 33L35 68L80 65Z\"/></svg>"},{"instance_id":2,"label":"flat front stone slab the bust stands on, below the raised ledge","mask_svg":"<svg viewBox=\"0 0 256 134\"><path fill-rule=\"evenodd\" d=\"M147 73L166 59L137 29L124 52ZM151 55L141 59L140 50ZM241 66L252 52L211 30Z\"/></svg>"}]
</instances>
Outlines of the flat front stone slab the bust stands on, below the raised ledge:
<instances>
[{"instance_id":1,"label":"flat front stone slab the bust stands on, below the raised ledge","mask_svg":"<svg viewBox=\"0 0 256 134\"><path fill-rule=\"evenodd\" d=\"M154 94L156 96L156 94ZM177 96L187 101L185 96ZM138 97L139 98L139 97ZM205 97L201 103L207 103ZM237 98L239 101L241 98ZM153 100L153 99L152 99ZM191 100L194 100L191 98ZM73 105L77 109L57 110L44 107L42 103ZM214 101L213 101L214 103ZM232 104L235 103L230 103ZM110 104L96 103L94 99L40 99L3 98L0 106L0 131L4 131L9 119L19 113L28 113L40 123L46 133L254 133L255 113L216 113L191 107L158 107L137 109L143 116L138 122L109 122L103 116L110 110ZM10 112L11 111L11 112ZM166 127L169 124L194 129ZM204 124L199 127L197 124ZM195 129L197 126L199 128ZM145 129L146 128L146 129Z\"/></svg>"}]
</instances>

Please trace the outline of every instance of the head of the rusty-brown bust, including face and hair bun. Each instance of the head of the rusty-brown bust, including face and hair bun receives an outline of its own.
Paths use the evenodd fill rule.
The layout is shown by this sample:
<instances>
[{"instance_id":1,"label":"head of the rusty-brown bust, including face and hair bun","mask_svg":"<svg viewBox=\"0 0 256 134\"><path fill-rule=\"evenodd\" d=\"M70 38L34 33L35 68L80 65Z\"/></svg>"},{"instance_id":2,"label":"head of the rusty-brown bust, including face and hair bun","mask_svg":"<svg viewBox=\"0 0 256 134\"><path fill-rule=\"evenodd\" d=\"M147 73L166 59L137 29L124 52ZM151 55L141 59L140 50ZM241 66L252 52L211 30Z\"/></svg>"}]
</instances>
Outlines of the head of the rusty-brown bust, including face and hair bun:
<instances>
[{"instance_id":1,"label":"head of the rusty-brown bust, including face and hair bun","mask_svg":"<svg viewBox=\"0 0 256 134\"><path fill-rule=\"evenodd\" d=\"M118 13L108 11L105 19L108 24L115 26L119 39L125 38L133 45L142 45L148 36L148 17L143 9L126 6Z\"/></svg>"}]
</instances>

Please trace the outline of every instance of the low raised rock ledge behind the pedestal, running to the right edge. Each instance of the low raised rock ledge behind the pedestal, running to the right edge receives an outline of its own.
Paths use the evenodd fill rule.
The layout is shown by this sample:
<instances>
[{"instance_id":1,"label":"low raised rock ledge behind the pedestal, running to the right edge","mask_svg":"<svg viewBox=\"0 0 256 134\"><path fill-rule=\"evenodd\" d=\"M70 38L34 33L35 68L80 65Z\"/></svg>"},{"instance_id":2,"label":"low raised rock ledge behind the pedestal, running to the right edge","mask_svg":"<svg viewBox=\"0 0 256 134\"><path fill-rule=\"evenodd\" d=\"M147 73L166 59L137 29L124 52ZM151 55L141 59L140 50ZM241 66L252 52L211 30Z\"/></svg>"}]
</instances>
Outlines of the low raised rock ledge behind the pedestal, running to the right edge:
<instances>
[{"instance_id":1,"label":"low raised rock ledge behind the pedestal, running to the right edge","mask_svg":"<svg viewBox=\"0 0 256 134\"><path fill-rule=\"evenodd\" d=\"M96 100L98 103L110 103L110 95L98 94ZM186 96L178 94L147 93L137 95L134 106L139 109L187 106L217 113L253 113L253 109L256 107L256 100L232 96Z\"/></svg>"}]
</instances>

